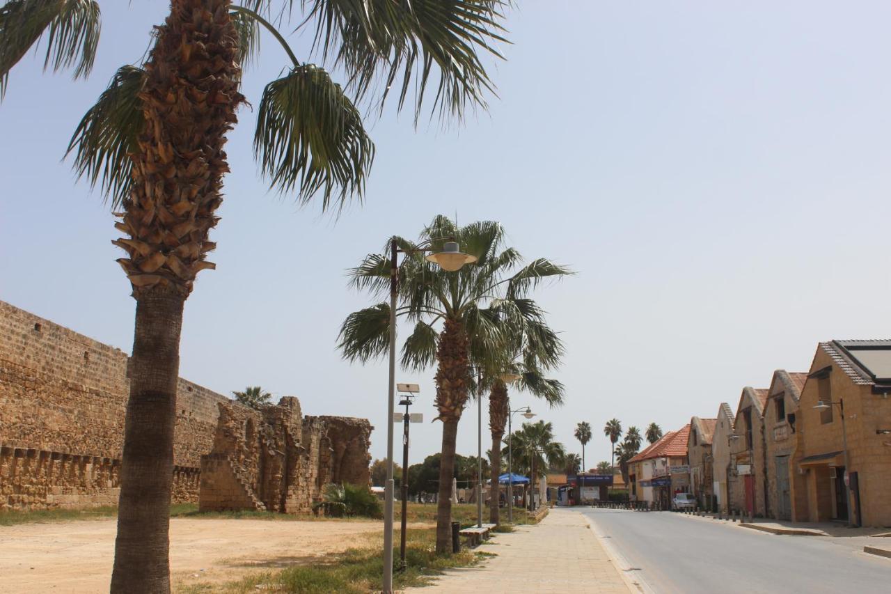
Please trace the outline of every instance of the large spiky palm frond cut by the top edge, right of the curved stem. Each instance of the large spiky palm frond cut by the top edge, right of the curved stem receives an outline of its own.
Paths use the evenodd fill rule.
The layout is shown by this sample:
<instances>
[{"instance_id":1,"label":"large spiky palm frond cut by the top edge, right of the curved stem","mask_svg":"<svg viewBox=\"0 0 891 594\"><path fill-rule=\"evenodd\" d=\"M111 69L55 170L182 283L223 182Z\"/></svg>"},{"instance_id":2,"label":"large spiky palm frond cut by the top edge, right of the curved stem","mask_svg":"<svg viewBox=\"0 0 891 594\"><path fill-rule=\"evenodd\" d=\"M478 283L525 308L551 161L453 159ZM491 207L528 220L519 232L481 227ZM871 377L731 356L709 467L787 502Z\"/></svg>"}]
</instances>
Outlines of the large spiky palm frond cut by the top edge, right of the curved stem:
<instances>
[{"instance_id":1,"label":"large spiky palm frond cut by the top edge, right of the curved stem","mask_svg":"<svg viewBox=\"0 0 891 594\"><path fill-rule=\"evenodd\" d=\"M373 87L384 86L380 104L394 85L398 109L405 106L412 87L417 123L434 67L438 83L431 115L458 119L470 107L486 107L495 85L478 57L496 58L503 37L499 0L305 0L307 21L315 21L314 49L323 60L347 70L348 87L362 98ZM306 22L304 24L306 24ZM481 50L481 51L480 51Z\"/></svg>"}]
</instances>

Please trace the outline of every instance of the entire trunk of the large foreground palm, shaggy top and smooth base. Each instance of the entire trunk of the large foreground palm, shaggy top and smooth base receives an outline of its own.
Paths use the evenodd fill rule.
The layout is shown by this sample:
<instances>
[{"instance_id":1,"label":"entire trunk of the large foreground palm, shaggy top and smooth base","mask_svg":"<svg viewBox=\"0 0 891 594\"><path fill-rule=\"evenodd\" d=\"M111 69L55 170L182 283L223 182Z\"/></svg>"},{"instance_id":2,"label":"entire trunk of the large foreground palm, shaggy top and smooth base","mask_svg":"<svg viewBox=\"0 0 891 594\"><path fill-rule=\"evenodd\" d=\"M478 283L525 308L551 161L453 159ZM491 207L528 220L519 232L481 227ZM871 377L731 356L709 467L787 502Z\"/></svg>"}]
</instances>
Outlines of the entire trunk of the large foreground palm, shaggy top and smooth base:
<instances>
[{"instance_id":1,"label":"entire trunk of the large foreground palm, shaggy top and smooth base","mask_svg":"<svg viewBox=\"0 0 891 594\"><path fill-rule=\"evenodd\" d=\"M184 301L205 260L235 123L237 37L227 0L173 0L146 62L145 129L115 243L136 319L112 592L168 592L176 378Z\"/></svg>"}]
</instances>

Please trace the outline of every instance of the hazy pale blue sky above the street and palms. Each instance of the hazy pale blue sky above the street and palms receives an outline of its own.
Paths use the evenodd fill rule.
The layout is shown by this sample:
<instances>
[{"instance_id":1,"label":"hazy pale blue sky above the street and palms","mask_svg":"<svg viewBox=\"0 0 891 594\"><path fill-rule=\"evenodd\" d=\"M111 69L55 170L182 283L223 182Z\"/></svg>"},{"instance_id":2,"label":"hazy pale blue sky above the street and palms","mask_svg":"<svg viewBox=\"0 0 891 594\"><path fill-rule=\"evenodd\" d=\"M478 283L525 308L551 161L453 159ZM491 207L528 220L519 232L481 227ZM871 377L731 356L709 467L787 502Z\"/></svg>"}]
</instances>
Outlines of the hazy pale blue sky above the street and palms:
<instances>
[{"instance_id":1,"label":"hazy pale blue sky above the street and palms","mask_svg":"<svg viewBox=\"0 0 891 594\"><path fill-rule=\"evenodd\" d=\"M61 158L167 4L100 4L88 80L45 74L29 54L0 103L0 299L130 351L135 301L114 219ZM224 394L259 384L297 396L305 414L367 417L383 457L386 364L351 365L335 348L347 314L372 303L346 270L437 214L498 220L527 259L576 270L535 293L566 342L554 374L566 404L511 392L511 405L531 406L570 452L576 424L591 423L589 467L609 459L610 418L678 429L721 402L736 408L774 369L806 371L820 341L891 337L876 227L891 215L891 4L518 4L506 59L487 62L488 111L445 128L415 129L395 104L370 117L366 200L339 217L268 191L251 153L256 112L241 110L211 235L217 270L186 302L180 375ZM290 37L301 60L309 37ZM253 105L288 63L269 36L261 51L244 81ZM440 448L434 371L397 372L421 384L413 462ZM458 452L476 451L472 405Z\"/></svg>"}]
</instances>

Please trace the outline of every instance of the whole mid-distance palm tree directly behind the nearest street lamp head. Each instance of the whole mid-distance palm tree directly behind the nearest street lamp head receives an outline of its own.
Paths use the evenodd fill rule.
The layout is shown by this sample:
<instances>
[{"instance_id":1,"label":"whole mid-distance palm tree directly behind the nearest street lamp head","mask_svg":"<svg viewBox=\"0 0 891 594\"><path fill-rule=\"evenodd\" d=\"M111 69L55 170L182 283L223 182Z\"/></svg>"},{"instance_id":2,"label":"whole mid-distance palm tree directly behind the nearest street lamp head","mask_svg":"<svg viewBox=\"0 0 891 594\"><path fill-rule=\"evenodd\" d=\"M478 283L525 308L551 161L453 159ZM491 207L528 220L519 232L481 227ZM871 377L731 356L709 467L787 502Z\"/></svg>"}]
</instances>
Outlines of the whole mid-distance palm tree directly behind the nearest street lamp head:
<instances>
[{"instance_id":1,"label":"whole mid-distance palm tree directly behind the nearest street lamp head","mask_svg":"<svg viewBox=\"0 0 891 594\"><path fill-rule=\"evenodd\" d=\"M527 299L527 294L545 278L568 274L565 268L544 259L520 266L519 253L504 248L504 229L494 221L459 228L438 216L421 233L421 241L430 242L435 249L442 247L443 237L454 237L464 252L478 258L477 263L446 272L425 260L417 244L399 237L392 240L407 252L398 270L396 316L414 323L413 333L402 348L402 365L421 371L437 364L435 420L443 422L438 553L451 551L450 483L458 422L472 384L471 351L477 364L481 363L479 359L503 356L511 326L515 326L505 320L523 318L527 324L540 323L542 311ZM390 288L388 255L367 256L350 276L356 288L383 297ZM389 303L380 302L347 316L340 328L338 347L350 361L383 356L389 348ZM492 361L486 368L495 364ZM493 461L492 466L499 465Z\"/></svg>"}]
</instances>

